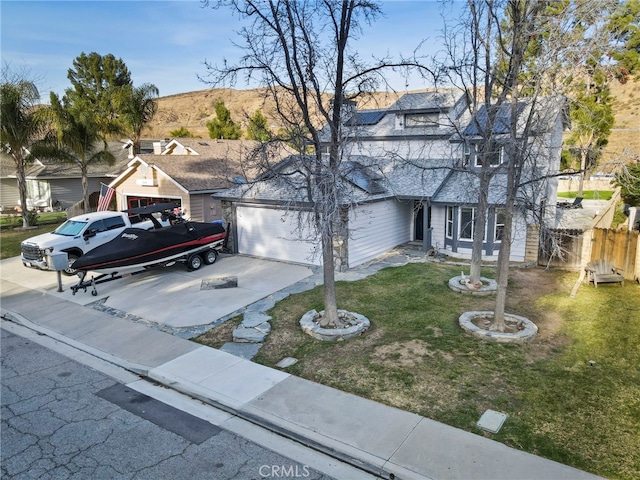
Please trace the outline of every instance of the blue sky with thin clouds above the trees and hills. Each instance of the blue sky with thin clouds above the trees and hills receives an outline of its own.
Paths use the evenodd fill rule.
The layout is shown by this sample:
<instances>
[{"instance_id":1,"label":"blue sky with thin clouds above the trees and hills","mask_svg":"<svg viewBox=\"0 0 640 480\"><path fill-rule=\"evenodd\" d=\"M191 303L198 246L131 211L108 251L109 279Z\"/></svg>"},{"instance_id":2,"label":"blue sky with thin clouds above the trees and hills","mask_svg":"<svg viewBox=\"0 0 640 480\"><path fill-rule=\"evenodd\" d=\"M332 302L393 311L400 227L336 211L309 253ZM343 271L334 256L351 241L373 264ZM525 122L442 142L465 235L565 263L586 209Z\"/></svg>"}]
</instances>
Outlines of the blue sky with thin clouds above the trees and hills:
<instances>
[{"instance_id":1,"label":"blue sky with thin clouds above the trees and hills","mask_svg":"<svg viewBox=\"0 0 640 480\"><path fill-rule=\"evenodd\" d=\"M457 2L459 5L460 2ZM385 0L383 16L365 26L357 49L372 54L409 55L423 40L435 48L442 31L435 0ZM204 62L232 63L242 55L233 42L240 20L200 0L0 0L0 57L3 66L28 74L43 101L71 86L67 71L81 53L122 59L134 86L153 83L160 96L211 88ZM418 78L391 78L394 89L429 87ZM250 88L239 82L234 88Z\"/></svg>"}]
</instances>

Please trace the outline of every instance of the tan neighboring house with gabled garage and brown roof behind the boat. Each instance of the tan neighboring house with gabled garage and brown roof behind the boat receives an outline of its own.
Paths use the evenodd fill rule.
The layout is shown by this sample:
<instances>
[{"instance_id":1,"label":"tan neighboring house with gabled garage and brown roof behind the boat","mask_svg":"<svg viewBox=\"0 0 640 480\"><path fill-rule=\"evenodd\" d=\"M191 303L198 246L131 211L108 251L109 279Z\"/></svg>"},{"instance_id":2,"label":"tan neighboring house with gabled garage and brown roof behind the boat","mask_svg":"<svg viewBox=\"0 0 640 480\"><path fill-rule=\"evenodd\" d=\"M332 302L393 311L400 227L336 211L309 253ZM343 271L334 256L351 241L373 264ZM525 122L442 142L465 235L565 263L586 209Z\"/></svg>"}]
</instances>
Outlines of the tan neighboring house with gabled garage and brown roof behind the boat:
<instances>
[{"instance_id":1,"label":"tan neighboring house with gabled garage and brown roof behind the boat","mask_svg":"<svg viewBox=\"0 0 640 480\"><path fill-rule=\"evenodd\" d=\"M211 195L246 183L248 159L259 151L255 141L173 139L153 143L153 153L133 157L109 186L118 209L174 202L185 217L210 222L222 218L220 201ZM274 158L290 154L283 149Z\"/></svg>"}]
</instances>

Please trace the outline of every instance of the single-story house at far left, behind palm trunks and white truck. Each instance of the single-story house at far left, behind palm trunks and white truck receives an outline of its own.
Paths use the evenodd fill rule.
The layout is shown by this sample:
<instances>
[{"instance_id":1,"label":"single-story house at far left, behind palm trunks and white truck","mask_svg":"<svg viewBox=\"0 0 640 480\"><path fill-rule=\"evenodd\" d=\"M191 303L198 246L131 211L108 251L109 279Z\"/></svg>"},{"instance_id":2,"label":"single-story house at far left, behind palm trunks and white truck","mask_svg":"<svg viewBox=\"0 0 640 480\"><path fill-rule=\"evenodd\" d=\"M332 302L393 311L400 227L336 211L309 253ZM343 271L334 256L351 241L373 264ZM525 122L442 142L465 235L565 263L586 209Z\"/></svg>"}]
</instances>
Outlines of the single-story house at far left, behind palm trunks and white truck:
<instances>
[{"instance_id":1,"label":"single-story house at far left, behind palm trunks and white truck","mask_svg":"<svg viewBox=\"0 0 640 480\"><path fill-rule=\"evenodd\" d=\"M111 182L125 167L128 151L122 142L109 142L109 151L116 162L89 163L88 180L90 202L95 208L100 195L100 185ZM0 205L4 213L21 208L16 167L13 160L2 154L0 158ZM65 210L82 200L80 168L75 163L61 163L49 159L37 159L26 170L27 207L39 210Z\"/></svg>"}]
</instances>

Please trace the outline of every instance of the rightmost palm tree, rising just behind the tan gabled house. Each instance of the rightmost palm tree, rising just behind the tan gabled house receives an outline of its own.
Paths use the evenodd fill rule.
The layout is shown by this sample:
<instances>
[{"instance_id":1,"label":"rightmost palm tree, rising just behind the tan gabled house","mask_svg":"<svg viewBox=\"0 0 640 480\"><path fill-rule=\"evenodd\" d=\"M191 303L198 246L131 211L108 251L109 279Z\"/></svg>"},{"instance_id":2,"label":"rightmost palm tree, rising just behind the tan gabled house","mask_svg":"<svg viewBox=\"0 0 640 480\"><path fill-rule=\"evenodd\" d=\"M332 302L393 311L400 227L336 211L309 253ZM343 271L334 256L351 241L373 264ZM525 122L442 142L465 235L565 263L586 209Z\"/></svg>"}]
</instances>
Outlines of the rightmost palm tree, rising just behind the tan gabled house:
<instances>
[{"instance_id":1,"label":"rightmost palm tree, rising just behind the tan gabled house","mask_svg":"<svg viewBox=\"0 0 640 480\"><path fill-rule=\"evenodd\" d=\"M158 87L145 83L140 87L128 85L118 95L118 111L125 131L131 136L136 154L140 153L142 129L158 110Z\"/></svg>"}]
</instances>

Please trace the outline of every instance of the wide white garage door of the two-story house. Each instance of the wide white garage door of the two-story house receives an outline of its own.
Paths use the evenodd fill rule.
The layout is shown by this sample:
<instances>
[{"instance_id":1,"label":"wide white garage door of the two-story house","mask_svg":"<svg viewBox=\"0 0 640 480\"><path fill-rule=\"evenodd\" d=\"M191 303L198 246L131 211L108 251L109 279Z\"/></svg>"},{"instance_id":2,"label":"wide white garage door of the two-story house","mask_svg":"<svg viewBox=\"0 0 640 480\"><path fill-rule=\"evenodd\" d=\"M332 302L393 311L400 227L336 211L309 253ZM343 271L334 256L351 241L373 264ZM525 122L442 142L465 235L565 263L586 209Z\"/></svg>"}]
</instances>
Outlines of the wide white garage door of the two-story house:
<instances>
[{"instance_id":1,"label":"wide white garage door of the two-story house","mask_svg":"<svg viewBox=\"0 0 640 480\"><path fill-rule=\"evenodd\" d=\"M321 264L320 245L310 233L308 213L303 212L305 217L299 219L298 212L238 207L236 214L239 253L287 262Z\"/></svg>"}]
</instances>

